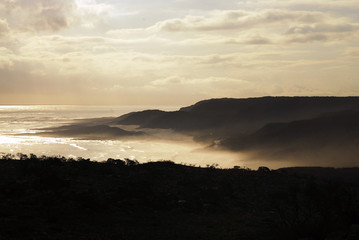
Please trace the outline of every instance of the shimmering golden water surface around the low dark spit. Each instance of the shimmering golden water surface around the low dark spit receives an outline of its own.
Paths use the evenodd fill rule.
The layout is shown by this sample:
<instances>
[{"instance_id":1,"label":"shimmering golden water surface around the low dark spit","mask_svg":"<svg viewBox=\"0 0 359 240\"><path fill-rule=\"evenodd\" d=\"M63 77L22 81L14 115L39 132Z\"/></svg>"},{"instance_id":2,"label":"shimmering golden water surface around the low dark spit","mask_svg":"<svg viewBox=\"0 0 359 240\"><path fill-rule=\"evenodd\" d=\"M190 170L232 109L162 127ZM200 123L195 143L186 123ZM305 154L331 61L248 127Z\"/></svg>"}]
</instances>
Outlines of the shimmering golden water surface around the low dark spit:
<instances>
[{"instance_id":1,"label":"shimmering golden water surface around the low dark spit","mask_svg":"<svg viewBox=\"0 0 359 240\"><path fill-rule=\"evenodd\" d=\"M0 106L0 153L34 153L65 157L131 158L140 162L172 160L205 166L218 163L222 167L245 165L238 154L203 150L193 141L163 140L77 140L37 136L40 128L60 126L76 119L118 117L145 109L177 110L179 107L158 106ZM21 134L34 133L27 136Z\"/></svg>"}]
</instances>

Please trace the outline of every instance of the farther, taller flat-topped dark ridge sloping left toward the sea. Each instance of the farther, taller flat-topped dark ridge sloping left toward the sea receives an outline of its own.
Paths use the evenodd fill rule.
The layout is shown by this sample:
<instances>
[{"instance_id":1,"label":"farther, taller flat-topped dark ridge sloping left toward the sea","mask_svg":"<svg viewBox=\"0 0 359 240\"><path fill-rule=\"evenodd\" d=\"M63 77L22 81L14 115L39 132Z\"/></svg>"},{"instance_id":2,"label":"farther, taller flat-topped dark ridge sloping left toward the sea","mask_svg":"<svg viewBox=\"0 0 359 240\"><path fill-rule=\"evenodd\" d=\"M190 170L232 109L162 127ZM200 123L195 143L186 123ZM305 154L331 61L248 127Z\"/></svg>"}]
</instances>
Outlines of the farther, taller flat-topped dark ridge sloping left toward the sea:
<instances>
[{"instance_id":1,"label":"farther, taller flat-topped dark ridge sloping left toward the sea","mask_svg":"<svg viewBox=\"0 0 359 240\"><path fill-rule=\"evenodd\" d=\"M218 135L249 133L271 122L313 118L326 112L359 110L358 97L262 97L210 99L179 111L133 112L116 119L118 124L177 131L212 130ZM229 130L230 129L230 130Z\"/></svg>"}]
</instances>

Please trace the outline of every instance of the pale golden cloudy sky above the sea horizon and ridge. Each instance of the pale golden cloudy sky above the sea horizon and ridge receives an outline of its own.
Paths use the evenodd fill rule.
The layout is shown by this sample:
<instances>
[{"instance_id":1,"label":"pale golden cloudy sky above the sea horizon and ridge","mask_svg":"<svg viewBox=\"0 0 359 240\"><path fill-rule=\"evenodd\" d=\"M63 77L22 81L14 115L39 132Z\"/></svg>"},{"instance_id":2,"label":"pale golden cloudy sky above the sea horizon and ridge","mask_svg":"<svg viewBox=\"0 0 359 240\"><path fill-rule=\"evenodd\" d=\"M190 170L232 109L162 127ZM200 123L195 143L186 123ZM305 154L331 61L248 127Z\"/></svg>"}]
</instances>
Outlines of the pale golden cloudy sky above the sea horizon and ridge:
<instances>
[{"instance_id":1,"label":"pale golden cloudy sky above the sea horizon and ridge","mask_svg":"<svg viewBox=\"0 0 359 240\"><path fill-rule=\"evenodd\" d=\"M0 0L0 104L357 95L358 0Z\"/></svg>"}]
</instances>

